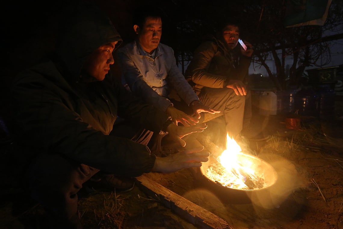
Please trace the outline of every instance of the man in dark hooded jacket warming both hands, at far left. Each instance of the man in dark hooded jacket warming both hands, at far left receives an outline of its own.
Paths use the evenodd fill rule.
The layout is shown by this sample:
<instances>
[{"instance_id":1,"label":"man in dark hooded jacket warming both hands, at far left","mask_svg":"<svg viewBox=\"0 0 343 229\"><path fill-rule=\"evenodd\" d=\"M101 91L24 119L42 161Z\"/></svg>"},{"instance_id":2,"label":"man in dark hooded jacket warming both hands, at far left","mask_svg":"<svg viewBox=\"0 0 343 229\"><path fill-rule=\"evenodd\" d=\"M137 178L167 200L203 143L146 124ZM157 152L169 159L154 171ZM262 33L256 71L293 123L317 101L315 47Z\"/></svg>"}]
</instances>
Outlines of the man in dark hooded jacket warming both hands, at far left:
<instances>
[{"instance_id":1,"label":"man in dark hooded jacket warming both hands, at far left","mask_svg":"<svg viewBox=\"0 0 343 229\"><path fill-rule=\"evenodd\" d=\"M10 134L27 158L24 185L55 220L52 228L80 228L78 191L99 171L106 187L130 190L128 180L151 171L200 167L209 154L201 149L156 157L139 142L112 134L117 117L139 127L181 138L206 125L176 126L168 115L135 98L105 77L121 42L110 20L93 3L71 10L55 55L20 72L11 87ZM65 15L64 15L65 16ZM141 136L138 136L141 137ZM149 139L148 139L149 140Z\"/></svg>"}]
</instances>

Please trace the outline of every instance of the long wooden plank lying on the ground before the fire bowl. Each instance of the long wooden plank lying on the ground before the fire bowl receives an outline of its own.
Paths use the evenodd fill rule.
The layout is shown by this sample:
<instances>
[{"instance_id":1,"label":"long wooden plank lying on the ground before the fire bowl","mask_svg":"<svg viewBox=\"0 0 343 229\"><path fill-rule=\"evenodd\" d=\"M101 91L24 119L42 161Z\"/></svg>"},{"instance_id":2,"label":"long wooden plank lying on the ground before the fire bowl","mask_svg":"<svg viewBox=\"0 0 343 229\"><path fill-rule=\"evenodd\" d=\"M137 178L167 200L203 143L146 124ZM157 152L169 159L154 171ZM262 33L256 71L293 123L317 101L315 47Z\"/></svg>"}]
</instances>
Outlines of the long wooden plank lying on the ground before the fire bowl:
<instances>
[{"instance_id":1,"label":"long wooden plank lying on the ground before the fire bowl","mask_svg":"<svg viewBox=\"0 0 343 229\"><path fill-rule=\"evenodd\" d=\"M156 183L144 174L136 178L139 188L191 224L206 229L232 229L222 218Z\"/></svg>"}]
</instances>

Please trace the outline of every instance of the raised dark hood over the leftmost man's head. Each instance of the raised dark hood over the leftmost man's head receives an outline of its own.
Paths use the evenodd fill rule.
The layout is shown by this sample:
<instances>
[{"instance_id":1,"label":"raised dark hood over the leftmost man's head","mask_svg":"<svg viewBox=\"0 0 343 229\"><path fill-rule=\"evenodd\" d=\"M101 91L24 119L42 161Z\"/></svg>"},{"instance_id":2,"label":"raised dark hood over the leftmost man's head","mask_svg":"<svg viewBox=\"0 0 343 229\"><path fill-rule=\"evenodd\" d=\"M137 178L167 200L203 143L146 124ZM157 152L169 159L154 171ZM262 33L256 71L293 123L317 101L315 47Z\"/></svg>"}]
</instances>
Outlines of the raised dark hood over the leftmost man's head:
<instances>
[{"instance_id":1,"label":"raised dark hood over the leftmost man's head","mask_svg":"<svg viewBox=\"0 0 343 229\"><path fill-rule=\"evenodd\" d=\"M101 45L122 39L109 18L94 3L81 1L63 23L56 54L74 81L78 81L84 61Z\"/></svg>"}]
</instances>

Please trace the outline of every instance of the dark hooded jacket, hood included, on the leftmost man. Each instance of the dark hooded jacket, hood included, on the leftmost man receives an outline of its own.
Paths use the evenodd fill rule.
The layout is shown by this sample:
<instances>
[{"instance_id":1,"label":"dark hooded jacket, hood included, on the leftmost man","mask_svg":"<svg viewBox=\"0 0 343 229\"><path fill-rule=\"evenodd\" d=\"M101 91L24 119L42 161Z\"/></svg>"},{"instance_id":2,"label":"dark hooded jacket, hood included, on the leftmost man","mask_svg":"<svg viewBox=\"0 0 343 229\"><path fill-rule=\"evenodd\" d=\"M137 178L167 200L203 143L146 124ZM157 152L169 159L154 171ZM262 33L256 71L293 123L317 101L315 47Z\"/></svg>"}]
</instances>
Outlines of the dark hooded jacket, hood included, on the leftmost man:
<instances>
[{"instance_id":1,"label":"dark hooded jacket, hood included, on the leftmost man","mask_svg":"<svg viewBox=\"0 0 343 229\"><path fill-rule=\"evenodd\" d=\"M81 4L73 15L56 55L22 71L13 81L14 141L27 156L60 153L107 173L150 172L155 156L149 148L109 133L118 116L157 132L168 116L142 103L120 83L110 83L107 76L103 81L81 78L87 56L121 38L92 4Z\"/></svg>"}]
</instances>

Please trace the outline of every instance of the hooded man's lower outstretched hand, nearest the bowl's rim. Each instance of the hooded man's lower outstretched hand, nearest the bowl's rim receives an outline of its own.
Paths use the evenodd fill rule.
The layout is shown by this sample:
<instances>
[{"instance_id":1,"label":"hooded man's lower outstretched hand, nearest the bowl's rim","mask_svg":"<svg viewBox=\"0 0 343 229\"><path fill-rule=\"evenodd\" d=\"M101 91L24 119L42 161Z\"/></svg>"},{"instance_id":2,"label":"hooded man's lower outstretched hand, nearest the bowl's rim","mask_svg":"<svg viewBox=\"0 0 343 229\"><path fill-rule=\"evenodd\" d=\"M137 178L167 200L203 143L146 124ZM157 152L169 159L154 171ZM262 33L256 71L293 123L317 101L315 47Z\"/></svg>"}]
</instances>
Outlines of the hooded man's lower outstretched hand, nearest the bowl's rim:
<instances>
[{"instance_id":1,"label":"hooded man's lower outstretched hand, nearest the bowl's rim","mask_svg":"<svg viewBox=\"0 0 343 229\"><path fill-rule=\"evenodd\" d=\"M156 157L152 171L171 173L181 169L191 167L200 167L202 162L209 160L210 153L202 151L203 146L194 149L180 151L174 154L169 154L167 157Z\"/></svg>"}]
</instances>

